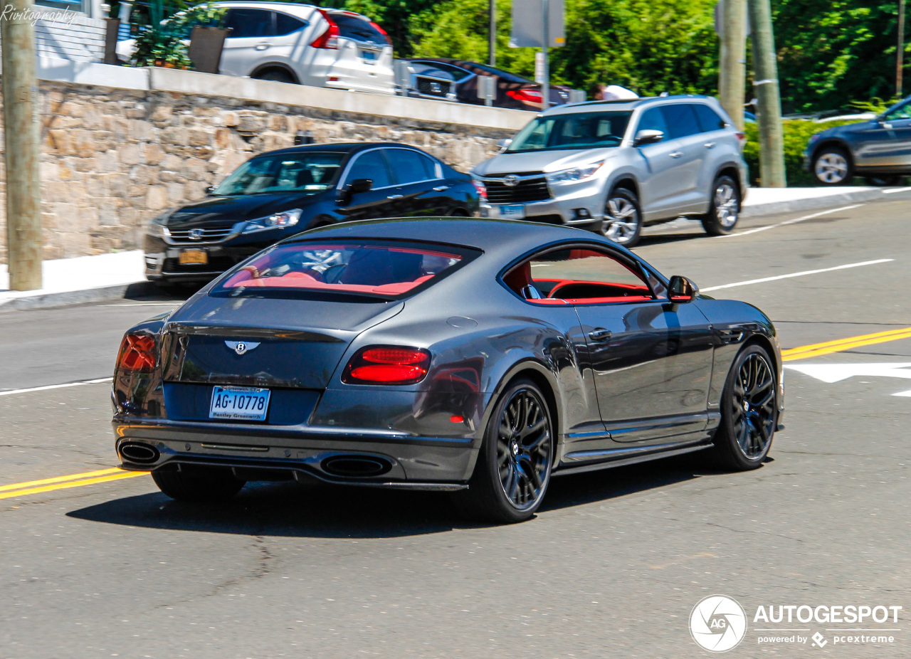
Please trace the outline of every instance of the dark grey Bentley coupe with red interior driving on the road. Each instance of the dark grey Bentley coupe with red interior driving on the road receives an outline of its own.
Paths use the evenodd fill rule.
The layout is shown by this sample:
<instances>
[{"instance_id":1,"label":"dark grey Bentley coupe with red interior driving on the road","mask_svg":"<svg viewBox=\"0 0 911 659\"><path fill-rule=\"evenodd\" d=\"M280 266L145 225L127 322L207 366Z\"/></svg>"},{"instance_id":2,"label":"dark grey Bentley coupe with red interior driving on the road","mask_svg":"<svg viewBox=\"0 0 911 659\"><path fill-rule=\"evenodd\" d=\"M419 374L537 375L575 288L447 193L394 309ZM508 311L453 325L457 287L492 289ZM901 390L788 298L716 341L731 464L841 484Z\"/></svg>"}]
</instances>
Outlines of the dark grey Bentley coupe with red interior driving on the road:
<instances>
[{"instance_id":1,"label":"dark grey Bentley coupe with red interior driving on the road","mask_svg":"<svg viewBox=\"0 0 911 659\"><path fill-rule=\"evenodd\" d=\"M550 477L705 451L760 467L772 322L614 242L499 220L303 233L130 329L116 449L175 499L249 480L450 490L526 520Z\"/></svg>"}]
</instances>

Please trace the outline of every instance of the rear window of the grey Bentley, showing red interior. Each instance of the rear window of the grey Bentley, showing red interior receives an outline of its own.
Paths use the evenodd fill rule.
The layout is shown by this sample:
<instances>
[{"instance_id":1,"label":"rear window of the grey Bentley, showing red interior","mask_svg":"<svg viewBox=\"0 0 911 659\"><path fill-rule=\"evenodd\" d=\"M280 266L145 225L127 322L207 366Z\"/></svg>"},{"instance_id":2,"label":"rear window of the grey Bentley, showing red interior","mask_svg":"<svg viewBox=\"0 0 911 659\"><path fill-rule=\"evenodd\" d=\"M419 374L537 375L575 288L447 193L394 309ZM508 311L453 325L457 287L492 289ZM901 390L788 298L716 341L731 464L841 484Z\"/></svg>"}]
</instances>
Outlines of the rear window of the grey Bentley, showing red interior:
<instances>
[{"instance_id":1,"label":"rear window of the grey Bentley, showing red interior","mask_svg":"<svg viewBox=\"0 0 911 659\"><path fill-rule=\"evenodd\" d=\"M477 253L412 242L291 242L254 257L210 294L303 299L341 294L401 299L454 272Z\"/></svg>"}]
</instances>

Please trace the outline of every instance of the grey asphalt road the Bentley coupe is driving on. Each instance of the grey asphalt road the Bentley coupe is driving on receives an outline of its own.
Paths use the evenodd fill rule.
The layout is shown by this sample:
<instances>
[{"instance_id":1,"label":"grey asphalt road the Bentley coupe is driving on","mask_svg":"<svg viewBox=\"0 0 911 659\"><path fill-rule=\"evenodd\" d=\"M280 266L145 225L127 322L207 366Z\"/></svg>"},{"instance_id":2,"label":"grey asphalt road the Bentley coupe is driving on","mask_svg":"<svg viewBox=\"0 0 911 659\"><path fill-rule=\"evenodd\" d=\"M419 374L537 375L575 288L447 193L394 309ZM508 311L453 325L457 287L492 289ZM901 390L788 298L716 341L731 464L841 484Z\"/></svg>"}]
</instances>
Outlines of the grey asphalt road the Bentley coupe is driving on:
<instances>
[{"instance_id":1,"label":"grey asphalt road the Bentley coupe is driving on","mask_svg":"<svg viewBox=\"0 0 911 659\"><path fill-rule=\"evenodd\" d=\"M784 348L882 334L911 327L908 199L726 238L676 226L637 251L760 306ZM825 272L786 276L808 271ZM911 335L789 361L787 428L762 469L694 454L555 479L536 519L485 527L436 494L257 485L211 509L106 471L106 383L15 392L109 376L128 324L168 308L128 304L153 303L0 314L3 659L699 657L688 620L713 593L747 613L731 657L911 654L911 399L896 396L911 380L889 366L911 365ZM763 625L760 605L904 610ZM759 643L763 627L825 644ZM855 627L899 631L863 647L828 631Z\"/></svg>"}]
</instances>

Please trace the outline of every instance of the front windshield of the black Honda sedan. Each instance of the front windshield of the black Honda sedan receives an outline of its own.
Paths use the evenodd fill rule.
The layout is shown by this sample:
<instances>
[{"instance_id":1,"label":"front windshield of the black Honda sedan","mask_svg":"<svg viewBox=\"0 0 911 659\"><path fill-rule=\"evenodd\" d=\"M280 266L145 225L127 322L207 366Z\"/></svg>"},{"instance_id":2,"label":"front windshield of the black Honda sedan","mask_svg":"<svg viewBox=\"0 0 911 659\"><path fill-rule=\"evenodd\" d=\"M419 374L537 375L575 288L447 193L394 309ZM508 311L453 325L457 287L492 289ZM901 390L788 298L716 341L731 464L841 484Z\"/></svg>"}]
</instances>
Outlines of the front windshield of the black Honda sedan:
<instances>
[{"instance_id":1,"label":"front windshield of the black Honda sedan","mask_svg":"<svg viewBox=\"0 0 911 659\"><path fill-rule=\"evenodd\" d=\"M212 194L316 194L333 185L344 155L306 151L260 156L234 170Z\"/></svg>"}]
</instances>

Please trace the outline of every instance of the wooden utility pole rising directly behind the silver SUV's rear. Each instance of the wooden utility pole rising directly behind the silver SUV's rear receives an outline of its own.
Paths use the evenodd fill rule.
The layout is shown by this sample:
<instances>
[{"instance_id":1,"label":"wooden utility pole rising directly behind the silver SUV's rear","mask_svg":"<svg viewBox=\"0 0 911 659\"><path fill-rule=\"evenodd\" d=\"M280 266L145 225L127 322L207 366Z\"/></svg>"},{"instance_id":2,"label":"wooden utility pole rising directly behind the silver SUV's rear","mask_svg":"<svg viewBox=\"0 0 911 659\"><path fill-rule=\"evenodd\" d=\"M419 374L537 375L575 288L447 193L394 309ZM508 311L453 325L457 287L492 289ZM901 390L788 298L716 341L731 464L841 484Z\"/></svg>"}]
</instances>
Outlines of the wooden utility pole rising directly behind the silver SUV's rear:
<instances>
[{"instance_id":1,"label":"wooden utility pole rising directly behind the silver SUV's rear","mask_svg":"<svg viewBox=\"0 0 911 659\"><path fill-rule=\"evenodd\" d=\"M722 52L718 98L734 125L743 129L743 88L746 84L746 0L720 0Z\"/></svg>"}]
</instances>

